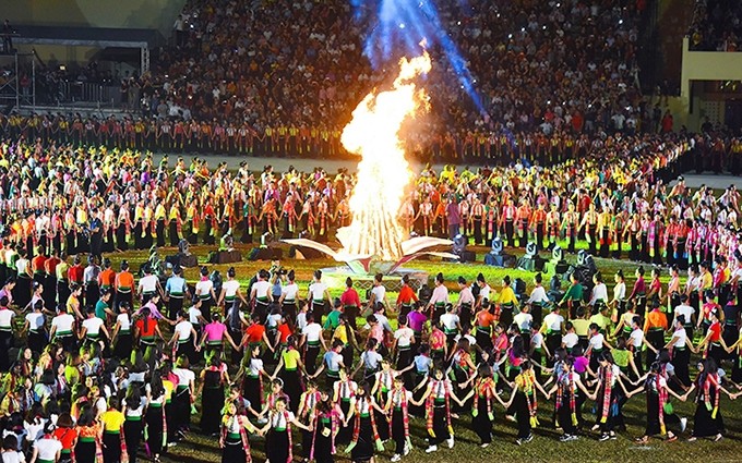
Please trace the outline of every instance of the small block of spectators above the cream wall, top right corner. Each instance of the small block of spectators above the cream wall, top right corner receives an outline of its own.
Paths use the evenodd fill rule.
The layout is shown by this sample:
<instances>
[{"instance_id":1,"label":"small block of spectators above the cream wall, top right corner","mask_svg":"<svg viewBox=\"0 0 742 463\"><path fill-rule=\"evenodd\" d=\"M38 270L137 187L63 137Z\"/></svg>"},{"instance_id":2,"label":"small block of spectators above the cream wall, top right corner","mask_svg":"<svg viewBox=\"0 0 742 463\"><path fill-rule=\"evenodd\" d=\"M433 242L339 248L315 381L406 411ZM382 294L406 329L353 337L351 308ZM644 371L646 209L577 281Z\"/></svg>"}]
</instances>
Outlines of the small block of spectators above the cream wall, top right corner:
<instances>
[{"instance_id":1,"label":"small block of spectators above the cream wall, top right corner","mask_svg":"<svg viewBox=\"0 0 742 463\"><path fill-rule=\"evenodd\" d=\"M742 2L696 0L689 36L691 50L739 51L742 48Z\"/></svg>"}]
</instances>

